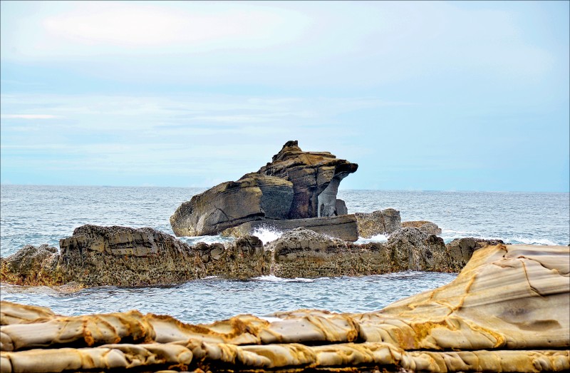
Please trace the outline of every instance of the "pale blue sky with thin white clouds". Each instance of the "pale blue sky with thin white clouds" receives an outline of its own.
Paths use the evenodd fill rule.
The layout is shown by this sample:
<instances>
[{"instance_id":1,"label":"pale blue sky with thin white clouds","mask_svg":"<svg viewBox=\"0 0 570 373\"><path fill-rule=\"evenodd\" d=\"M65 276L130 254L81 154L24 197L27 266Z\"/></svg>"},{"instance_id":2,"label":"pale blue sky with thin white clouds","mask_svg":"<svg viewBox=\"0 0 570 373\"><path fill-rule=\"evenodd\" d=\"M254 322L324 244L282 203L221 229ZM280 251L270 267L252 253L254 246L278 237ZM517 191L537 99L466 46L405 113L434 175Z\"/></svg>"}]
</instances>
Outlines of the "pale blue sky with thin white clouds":
<instances>
[{"instance_id":1,"label":"pale blue sky with thin white clouds","mask_svg":"<svg viewBox=\"0 0 570 373\"><path fill-rule=\"evenodd\" d=\"M569 1L1 1L2 184L569 192Z\"/></svg>"}]
</instances>

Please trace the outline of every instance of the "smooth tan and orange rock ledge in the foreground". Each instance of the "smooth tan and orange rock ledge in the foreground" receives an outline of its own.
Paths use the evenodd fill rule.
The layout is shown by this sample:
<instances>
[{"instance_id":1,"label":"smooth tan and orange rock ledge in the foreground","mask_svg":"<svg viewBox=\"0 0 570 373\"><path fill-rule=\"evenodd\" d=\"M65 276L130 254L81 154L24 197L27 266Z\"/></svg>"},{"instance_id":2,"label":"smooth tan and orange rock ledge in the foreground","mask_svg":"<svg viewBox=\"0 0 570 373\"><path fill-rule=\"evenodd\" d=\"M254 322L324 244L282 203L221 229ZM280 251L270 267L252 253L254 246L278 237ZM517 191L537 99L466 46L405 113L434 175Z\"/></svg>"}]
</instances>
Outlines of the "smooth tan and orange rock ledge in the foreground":
<instances>
[{"instance_id":1,"label":"smooth tan and orange rock ledge in the foreground","mask_svg":"<svg viewBox=\"0 0 570 373\"><path fill-rule=\"evenodd\" d=\"M477 250L450 284L377 312L210 325L131 311L66 317L1 302L1 372L563 372L569 247Z\"/></svg>"}]
</instances>

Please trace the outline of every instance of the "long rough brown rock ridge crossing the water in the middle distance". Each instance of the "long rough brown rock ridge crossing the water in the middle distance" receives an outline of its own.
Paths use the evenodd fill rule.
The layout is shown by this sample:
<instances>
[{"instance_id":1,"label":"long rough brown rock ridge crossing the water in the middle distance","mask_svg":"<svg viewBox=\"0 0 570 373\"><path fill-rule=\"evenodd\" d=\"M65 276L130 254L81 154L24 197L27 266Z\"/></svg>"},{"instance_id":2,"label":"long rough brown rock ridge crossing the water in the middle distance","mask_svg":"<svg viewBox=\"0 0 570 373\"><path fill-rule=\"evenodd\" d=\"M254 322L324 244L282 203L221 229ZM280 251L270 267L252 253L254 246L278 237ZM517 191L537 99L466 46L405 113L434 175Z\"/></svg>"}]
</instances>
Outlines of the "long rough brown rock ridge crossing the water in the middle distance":
<instances>
[{"instance_id":1,"label":"long rough brown rock ridge crossing the water in the middle distance","mask_svg":"<svg viewBox=\"0 0 570 373\"><path fill-rule=\"evenodd\" d=\"M343 217L338 217L343 218ZM355 245L296 228L263 246L246 235L225 245L187 245L152 228L83 225L55 247L26 246L0 260L0 280L16 285L170 285L207 276L323 277L403 270L459 272L475 250L403 228L388 242Z\"/></svg>"}]
</instances>

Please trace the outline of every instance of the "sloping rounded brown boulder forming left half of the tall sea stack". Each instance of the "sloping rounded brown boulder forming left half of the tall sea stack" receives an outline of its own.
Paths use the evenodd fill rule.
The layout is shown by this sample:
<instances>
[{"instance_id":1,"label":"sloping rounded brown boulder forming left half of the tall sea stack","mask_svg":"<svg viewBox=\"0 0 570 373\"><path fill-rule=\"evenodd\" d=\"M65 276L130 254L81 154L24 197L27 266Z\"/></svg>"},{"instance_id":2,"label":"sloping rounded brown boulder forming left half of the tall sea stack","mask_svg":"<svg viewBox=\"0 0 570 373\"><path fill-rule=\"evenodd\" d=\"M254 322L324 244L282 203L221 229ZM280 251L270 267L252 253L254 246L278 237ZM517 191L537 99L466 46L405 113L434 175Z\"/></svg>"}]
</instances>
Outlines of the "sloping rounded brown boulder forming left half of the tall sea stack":
<instances>
[{"instance_id":1,"label":"sloping rounded brown boulder forming left half of the tall sea stack","mask_svg":"<svg viewBox=\"0 0 570 373\"><path fill-rule=\"evenodd\" d=\"M215 235L250 220L286 219L292 201L289 181L248 173L182 203L170 225L177 236Z\"/></svg>"}]
</instances>

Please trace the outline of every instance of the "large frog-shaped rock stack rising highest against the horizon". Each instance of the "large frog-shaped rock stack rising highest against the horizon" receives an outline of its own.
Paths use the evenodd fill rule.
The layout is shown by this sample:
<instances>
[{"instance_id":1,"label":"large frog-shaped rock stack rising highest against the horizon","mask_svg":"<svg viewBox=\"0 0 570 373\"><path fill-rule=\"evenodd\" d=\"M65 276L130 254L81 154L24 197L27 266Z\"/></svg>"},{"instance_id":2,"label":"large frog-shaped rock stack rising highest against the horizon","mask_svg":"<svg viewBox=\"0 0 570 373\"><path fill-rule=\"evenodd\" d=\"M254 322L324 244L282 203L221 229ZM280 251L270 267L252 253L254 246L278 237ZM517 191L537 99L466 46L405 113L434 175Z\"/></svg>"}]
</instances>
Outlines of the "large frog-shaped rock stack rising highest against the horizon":
<instances>
[{"instance_id":1,"label":"large frog-shaped rock stack rising highest against the horizon","mask_svg":"<svg viewBox=\"0 0 570 373\"><path fill-rule=\"evenodd\" d=\"M181 235L212 235L254 220L318 218L348 213L336 199L338 185L358 168L328 152L304 152L287 142L257 173L226 182L189 202L170 217Z\"/></svg>"}]
</instances>

